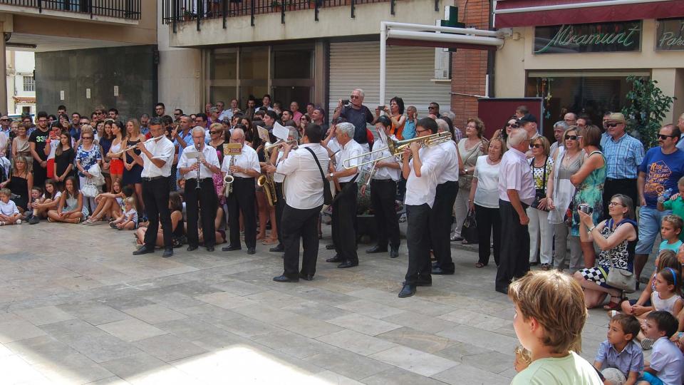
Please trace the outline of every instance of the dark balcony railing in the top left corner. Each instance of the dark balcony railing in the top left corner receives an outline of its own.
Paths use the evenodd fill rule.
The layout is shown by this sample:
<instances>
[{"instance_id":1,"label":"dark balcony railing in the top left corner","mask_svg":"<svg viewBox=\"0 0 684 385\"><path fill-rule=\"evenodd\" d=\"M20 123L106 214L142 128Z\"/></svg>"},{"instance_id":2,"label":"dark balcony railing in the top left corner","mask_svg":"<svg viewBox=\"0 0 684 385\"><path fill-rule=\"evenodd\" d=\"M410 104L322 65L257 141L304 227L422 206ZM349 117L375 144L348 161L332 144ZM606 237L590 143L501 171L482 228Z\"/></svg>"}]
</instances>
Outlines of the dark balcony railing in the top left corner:
<instances>
[{"instance_id":1,"label":"dark balcony railing in the top left corner","mask_svg":"<svg viewBox=\"0 0 684 385\"><path fill-rule=\"evenodd\" d=\"M0 0L2 4L25 6L27 8L51 11L66 11L74 14L108 16L118 19L140 20L141 0Z\"/></svg>"}]
</instances>

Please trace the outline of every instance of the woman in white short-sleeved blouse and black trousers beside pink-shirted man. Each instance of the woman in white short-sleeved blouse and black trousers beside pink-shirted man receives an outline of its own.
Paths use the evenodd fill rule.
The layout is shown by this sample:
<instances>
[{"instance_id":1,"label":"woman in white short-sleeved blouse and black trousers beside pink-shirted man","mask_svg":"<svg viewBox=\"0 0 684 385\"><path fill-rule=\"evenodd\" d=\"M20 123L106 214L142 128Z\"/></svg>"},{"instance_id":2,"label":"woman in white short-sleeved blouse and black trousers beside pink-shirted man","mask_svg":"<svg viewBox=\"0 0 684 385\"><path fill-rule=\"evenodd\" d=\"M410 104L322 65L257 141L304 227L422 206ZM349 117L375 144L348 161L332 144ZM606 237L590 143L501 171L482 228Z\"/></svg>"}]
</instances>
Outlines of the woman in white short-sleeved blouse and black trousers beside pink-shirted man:
<instances>
[{"instance_id":1,"label":"woman in white short-sleeved blouse and black trousers beside pink-shirted man","mask_svg":"<svg viewBox=\"0 0 684 385\"><path fill-rule=\"evenodd\" d=\"M492 138L487 148L487 155L477 157L475 173L468 205L475 210L477 220L477 237L480 240L480 260L475 267L485 267L489 263L489 237L494 232L494 262L499 265L499 237L501 235L501 220L499 220L499 163L507 150L506 145L498 136Z\"/></svg>"}]
</instances>

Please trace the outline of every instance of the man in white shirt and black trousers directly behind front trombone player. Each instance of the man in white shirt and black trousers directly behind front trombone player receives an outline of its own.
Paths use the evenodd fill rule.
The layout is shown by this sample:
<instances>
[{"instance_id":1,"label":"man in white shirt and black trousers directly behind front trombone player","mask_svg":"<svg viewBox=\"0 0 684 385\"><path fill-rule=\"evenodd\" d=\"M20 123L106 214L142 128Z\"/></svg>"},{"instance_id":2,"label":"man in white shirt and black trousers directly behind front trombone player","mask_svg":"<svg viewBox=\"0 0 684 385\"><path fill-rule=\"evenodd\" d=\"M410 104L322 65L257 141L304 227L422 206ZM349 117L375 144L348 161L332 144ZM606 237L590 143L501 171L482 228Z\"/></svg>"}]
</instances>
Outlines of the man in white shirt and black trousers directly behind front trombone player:
<instances>
[{"instance_id":1,"label":"man in white shirt and black trousers directly behind front trombone player","mask_svg":"<svg viewBox=\"0 0 684 385\"><path fill-rule=\"evenodd\" d=\"M437 132L450 132L446 120L437 119ZM453 133L452 133L453 134ZM452 135L453 136L453 135ZM458 193L458 153L456 142L449 140L439 144L444 150L442 160L444 170L437 178L435 204L430 211L430 237L432 238L432 252L437 262L432 265L432 274L454 274L456 266L451 259L451 212Z\"/></svg>"}]
</instances>

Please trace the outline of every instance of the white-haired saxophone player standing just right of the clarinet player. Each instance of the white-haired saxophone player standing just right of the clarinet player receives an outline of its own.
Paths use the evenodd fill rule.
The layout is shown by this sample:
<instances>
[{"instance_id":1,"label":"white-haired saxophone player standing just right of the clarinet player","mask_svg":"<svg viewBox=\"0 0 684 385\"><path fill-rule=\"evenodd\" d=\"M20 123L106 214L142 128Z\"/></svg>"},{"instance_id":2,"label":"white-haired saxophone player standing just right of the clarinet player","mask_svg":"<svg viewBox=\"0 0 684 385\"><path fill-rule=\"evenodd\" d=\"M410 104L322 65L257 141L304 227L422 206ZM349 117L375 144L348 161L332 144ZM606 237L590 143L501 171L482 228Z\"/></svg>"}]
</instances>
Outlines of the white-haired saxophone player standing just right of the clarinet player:
<instances>
[{"instance_id":1,"label":"white-haired saxophone player standing just right of the clarinet player","mask_svg":"<svg viewBox=\"0 0 684 385\"><path fill-rule=\"evenodd\" d=\"M228 206L228 225L230 227L229 245L223 251L241 250L240 245L240 212L244 219L244 243L247 254L254 254L257 247L257 217L254 212L255 185L254 178L261 173L257 151L244 145L244 130L235 128L230 135L230 143L242 144L240 155L225 155L221 172L223 177L233 175L233 192L226 200ZM233 165L230 165L234 159Z\"/></svg>"}]
</instances>

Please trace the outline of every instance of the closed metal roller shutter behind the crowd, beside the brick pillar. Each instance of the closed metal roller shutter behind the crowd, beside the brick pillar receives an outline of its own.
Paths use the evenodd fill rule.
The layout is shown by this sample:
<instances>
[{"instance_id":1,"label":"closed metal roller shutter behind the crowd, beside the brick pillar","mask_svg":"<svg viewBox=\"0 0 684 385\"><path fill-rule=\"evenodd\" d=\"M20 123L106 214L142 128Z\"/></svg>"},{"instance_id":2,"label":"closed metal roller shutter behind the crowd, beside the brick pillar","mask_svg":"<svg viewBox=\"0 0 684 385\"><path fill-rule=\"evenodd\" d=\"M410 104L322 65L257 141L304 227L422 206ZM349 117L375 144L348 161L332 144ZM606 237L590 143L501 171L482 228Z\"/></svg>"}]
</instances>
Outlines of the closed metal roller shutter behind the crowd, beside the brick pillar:
<instances>
[{"instance_id":1,"label":"closed metal roller shutter behind the crowd, beside the brick pillar","mask_svg":"<svg viewBox=\"0 0 684 385\"><path fill-rule=\"evenodd\" d=\"M374 113L379 105L380 43L377 41L330 43L330 105L337 107L339 99L348 99L353 88L363 88L363 104ZM435 48L388 46L387 91L390 98L403 98L404 105L415 106L418 116L427 114L430 102L440 104L440 110L450 110L451 83L430 81L435 76ZM332 115L332 114L329 114Z\"/></svg>"}]
</instances>

